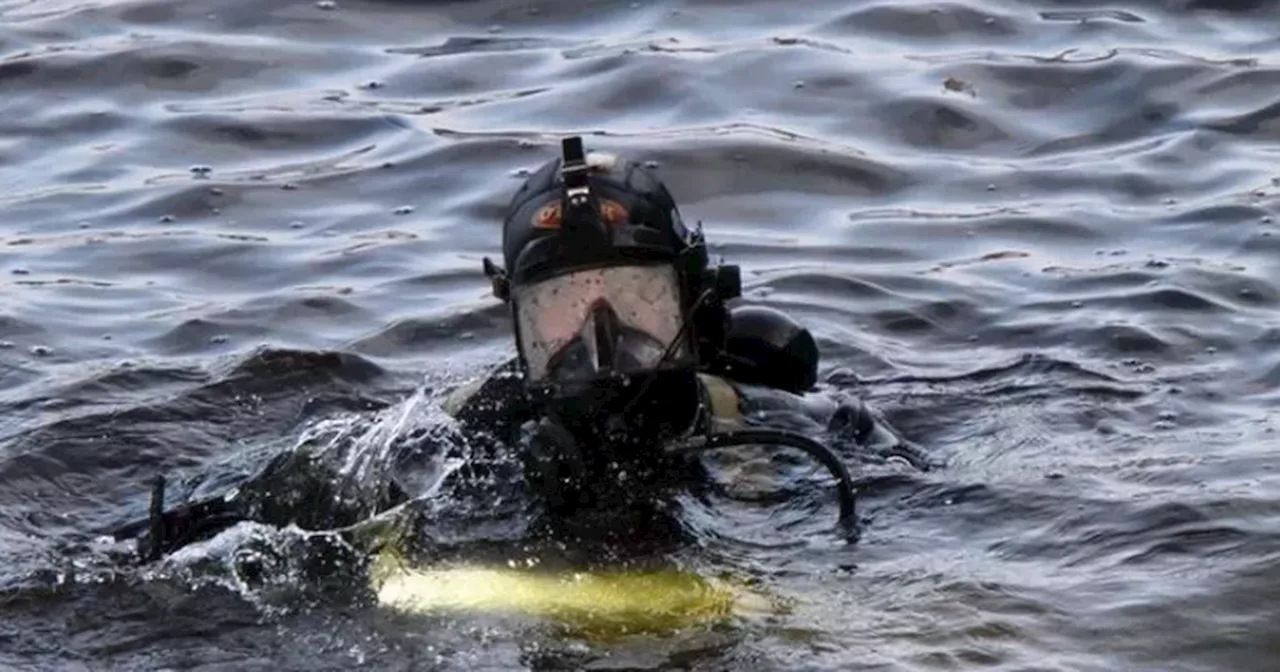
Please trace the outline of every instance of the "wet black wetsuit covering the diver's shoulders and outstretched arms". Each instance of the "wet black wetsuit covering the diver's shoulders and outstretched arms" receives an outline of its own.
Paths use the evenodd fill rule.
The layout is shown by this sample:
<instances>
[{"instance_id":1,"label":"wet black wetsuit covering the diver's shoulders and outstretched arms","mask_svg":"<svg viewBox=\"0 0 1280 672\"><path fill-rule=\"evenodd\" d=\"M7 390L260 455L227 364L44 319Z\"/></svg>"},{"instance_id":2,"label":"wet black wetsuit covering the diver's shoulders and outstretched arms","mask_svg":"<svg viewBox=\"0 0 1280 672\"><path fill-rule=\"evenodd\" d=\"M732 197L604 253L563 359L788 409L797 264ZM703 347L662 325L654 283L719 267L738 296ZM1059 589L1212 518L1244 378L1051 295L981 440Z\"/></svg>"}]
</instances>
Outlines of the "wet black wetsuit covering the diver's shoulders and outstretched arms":
<instances>
[{"instance_id":1,"label":"wet black wetsuit covering the diver's shoulders and outstretched arms","mask_svg":"<svg viewBox=\"0 0 1280 672\"><path fill-rule=\"evenodd\" d=\"M774 428L819 440L846 460L860 463L900 460L915 468L928 468L928 458L913 443L897 435L865 403L838 390L796 394L781 389L742 384L728 378L698 374L699 410L692 415L689 434L714 434L749 428ZM442 403L456 420L448 433L468 445L467 456L484 468L499 453L522 449L529 440L535 411L525 401L522 380L515 361L495 369L486 378L454 389ZM305 530L332 530L356 525L379 512L412 502L416 466L436 460L442 445L430 431L396 439L398 445L385 465L388 477L371 499L353 498L343 492L338 467L306 445L274 456L260 471L225 492L186 502L137 521L116 531L120 539L140 539L143 559L214 536L241 521L273 526L297 525ZM508 465L518 461L507 460ZM692 461L696 467L696 461ZM685 471L687 477L699 470ZM518 476L517 476L518 479ZM605 479L607 480L607 479ZM627 483L596 479L596 492L634 494ZM682 479L677 479L682 480ZM686 481L687 483L687 481ZM536 490L536 489L535 489ZM541 493L548 494L548 493Z\"/></svg>"}]
</instances>

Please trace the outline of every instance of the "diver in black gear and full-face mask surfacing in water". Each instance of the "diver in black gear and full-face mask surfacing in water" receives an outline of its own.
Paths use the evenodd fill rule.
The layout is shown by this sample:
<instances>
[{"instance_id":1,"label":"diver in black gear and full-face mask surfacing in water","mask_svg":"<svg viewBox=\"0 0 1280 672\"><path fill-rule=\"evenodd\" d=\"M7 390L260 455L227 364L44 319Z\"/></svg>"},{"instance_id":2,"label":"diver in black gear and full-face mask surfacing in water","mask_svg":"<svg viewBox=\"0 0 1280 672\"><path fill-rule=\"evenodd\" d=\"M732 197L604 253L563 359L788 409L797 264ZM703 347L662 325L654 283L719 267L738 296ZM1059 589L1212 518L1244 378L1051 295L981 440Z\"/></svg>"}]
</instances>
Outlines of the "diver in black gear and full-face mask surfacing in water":
<instances>
[{"instance_id":1,"label":"diver in black gear and full-face mask surfacing in water","mask_svg":"<svg viewBox=\"0 0 1280 672\"><path fill-rule=\"evenodd\" d=\"M836 476L840 522L856 536L855 486L841 457L929 468L929 460L856 397L818 388L818 346L786 314L739 305L737 266L712 264L654 173L579 137L512 197L503 264L484 273L511 311L516 356L443 402L467 440L515 451L522 481L552 520L622 509L696 485L699 453L792 448ZM835 448L832 448L835 447ZM157 480L138 539L155 559L239 521L303 529L353 525L412 502L397 471L431 445L402 451L374 507L335 504L334 475L289 452L234 495L164 508Z\"/></svg>"}]
</instances>

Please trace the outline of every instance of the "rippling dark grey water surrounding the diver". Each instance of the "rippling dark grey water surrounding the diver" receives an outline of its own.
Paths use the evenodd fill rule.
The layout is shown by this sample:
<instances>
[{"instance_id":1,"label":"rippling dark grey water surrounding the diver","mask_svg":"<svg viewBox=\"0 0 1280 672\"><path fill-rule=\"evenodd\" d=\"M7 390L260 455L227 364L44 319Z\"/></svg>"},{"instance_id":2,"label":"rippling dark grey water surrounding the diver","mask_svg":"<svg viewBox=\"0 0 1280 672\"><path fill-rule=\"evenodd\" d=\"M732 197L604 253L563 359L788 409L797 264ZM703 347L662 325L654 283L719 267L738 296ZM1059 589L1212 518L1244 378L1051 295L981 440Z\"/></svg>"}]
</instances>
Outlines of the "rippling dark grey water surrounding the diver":
<instances>
[{"instance_id":1,"label":"rippling dark grey water surrounding the diver","mask_svg":"<svg viewBox=\"0 0 1280 672\"><path fill-rule=\"evenodd\" d=\"M1280 669L1277 35L1265 0L0 0L0 666ZM831 502L690 513L676 559L795 608L667 637L101 573L150 475L316 422L376 452L502 360L480 257L562 133L657 163L948 466L870 488L852 548Z\"/></svg>"}]
</instances>

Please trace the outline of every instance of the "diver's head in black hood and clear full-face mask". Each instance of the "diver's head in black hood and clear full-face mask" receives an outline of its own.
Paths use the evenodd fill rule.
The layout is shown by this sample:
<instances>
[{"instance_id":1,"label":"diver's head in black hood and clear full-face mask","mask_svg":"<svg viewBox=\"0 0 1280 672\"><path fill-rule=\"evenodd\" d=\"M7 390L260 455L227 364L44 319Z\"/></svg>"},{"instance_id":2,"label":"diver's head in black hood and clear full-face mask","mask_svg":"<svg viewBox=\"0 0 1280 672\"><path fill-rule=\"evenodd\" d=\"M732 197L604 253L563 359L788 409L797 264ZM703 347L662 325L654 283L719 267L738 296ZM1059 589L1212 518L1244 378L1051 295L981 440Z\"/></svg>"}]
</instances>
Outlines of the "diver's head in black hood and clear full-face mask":
<instances>
[{"instance_id":1,"label":"diver's head in black hood and clear full-face mask","mask_svg":"<svg viewBox=\"0 0 1280 672\"><path fill-rule=\"evenodd\" d=\"M723 339L740 280L735 266L710 266L701 232L650 170L585 155L577 137L562 151L512 198L504 269L486 259L485 271L512 308L532 399L602 422L641 393L686 387L676 381Z\"/></svg>"}]
</instances>

